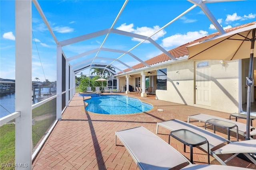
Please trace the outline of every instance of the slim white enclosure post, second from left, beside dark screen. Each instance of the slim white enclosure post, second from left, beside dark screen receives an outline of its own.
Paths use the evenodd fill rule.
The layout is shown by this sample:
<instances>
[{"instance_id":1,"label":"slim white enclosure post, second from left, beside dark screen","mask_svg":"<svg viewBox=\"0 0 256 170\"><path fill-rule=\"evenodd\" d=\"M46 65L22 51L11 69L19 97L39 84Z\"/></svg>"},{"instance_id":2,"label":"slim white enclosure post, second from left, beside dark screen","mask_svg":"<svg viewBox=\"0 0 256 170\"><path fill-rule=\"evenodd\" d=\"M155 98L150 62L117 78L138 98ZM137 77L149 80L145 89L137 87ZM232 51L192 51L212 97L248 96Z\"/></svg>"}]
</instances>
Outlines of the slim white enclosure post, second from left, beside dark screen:
<instances>
[{"instance_id":1,"label":"slim white enclosure post, second from left, beside dark screen","mask_svg":"<svg viewBox=\"0 0 256 170\"><path fill-rule=\"evenodd\" d=\"M57 47L56 119L61 120L62 112L62 47Z\"/></svg>"}]
</instances>

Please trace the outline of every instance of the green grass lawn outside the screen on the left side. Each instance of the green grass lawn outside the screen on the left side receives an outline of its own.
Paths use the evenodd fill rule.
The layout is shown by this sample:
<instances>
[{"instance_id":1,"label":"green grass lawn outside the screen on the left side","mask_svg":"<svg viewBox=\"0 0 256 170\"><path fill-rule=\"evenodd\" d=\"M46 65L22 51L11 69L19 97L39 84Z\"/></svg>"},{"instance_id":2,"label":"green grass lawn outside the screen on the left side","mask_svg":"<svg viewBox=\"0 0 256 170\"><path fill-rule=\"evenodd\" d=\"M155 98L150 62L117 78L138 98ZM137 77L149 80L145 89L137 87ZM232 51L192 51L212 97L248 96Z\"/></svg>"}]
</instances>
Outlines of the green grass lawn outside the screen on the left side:
<instances>
[{"instance_id":1,"label":"green grass lawn outside the screen on the left side","mask_svg":"<svg viewBox=\"0 0 256 170\"><path fill-rule=\"evenodd\" d=\"M47 117L44 117L44 115L47 115ZM36 120L38 117L40 119ZM42 106L39 106L33 109L32 119L35 119L35 125L32 125L32 141L33 141L33 147L35 147L36 144L48 132L48 129L56 120L56 99L51 100L50 102L47 102ZM5 124L0 127L0 163L15 164L15 124L14 123ZM4 167L2 169L10 170L14 168Z\"/></svg>"}]
</instances>

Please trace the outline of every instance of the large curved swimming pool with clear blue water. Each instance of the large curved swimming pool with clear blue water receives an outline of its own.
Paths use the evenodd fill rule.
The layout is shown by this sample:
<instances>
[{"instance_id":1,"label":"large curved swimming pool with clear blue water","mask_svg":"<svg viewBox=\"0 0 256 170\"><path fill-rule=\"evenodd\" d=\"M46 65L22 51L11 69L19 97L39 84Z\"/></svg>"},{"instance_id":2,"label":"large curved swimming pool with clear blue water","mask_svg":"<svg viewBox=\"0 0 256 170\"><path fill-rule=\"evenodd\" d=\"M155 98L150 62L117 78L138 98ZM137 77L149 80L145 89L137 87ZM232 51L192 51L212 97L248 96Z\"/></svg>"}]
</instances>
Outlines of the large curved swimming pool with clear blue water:
<instances>
[{"instance_id":1,"label":"large curved swimming pool with clear blue water","mask_svg":"<svg viewBox=\"0 0 256 170\"><path fill-rule=\"evenodd\" d=\"M84 101L88 103L87 111L108 115L140 113L153 108L150 104L124 95L102 95Z\"/></svg>"}]
</instances>

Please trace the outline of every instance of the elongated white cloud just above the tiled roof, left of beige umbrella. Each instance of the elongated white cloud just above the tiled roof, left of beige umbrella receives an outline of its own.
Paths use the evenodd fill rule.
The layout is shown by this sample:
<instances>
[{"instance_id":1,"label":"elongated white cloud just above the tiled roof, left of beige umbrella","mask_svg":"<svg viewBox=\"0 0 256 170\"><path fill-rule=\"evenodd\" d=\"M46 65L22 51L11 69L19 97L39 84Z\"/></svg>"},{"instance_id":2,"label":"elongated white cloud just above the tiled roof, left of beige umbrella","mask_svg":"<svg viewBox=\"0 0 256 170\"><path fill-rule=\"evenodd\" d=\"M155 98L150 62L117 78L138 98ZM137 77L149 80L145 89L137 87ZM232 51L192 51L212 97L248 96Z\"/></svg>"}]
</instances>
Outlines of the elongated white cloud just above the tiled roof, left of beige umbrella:
<instances>
[{"instance_id":1,"label":"elongated white cloud just above the tiled roof, left of beige umbrella","mask_svg":"<svg viewBox=\"0 0 256 170\"><path fill-rule=\"evenodd\" d=\"M180 45L194 41L195 39L204 37L206 35L208 35L208 32L202 30L187 32L186 34L172 35L162 40L162 47L178 47Z\"/></svg>"}]
</instances>

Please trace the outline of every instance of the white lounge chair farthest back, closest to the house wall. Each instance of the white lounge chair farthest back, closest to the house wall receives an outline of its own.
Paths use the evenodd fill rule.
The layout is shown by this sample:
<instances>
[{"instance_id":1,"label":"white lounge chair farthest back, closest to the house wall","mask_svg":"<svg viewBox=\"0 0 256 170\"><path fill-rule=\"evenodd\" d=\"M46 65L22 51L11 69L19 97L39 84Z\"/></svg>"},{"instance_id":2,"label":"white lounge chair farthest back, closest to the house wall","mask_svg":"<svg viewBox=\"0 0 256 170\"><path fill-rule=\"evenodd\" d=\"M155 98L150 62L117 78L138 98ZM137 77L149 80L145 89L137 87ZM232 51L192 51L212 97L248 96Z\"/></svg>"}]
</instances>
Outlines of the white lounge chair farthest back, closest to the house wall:
<instances>
[{"instance_id":1,"label":"white lounge chair farthest back, closest to the house wall","mask_svg":"<svg viewBox=\"0 0 256 170\"><path fill-rule=\"evenodd\" d=\"M246 124L244 124L244 123L240 123L240 122L237 122L237 121L225 119L225 118L222 118L222 117L206 115L206 114L202 114L202 113L188 116L188 123L189 123L190 119L195 119L195 120L202 121L202 122L205 122L209 119L219 119L219 120L224 120L224 121L227 121L227 122L231 122L231 123L234 123L234 124L237 125L238 133L240 135L243 135L244 137L246 137ZM255 128L250 126L250 129L255 129ZM233 128L233 129L230 129L230 131L236 132L236 127ZM251 136L256 135L256 131L253 131L252 133L250 133L250 135Z\"/></svg>"}]
</instances>

